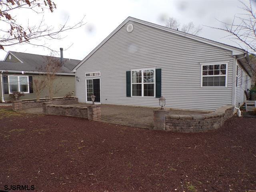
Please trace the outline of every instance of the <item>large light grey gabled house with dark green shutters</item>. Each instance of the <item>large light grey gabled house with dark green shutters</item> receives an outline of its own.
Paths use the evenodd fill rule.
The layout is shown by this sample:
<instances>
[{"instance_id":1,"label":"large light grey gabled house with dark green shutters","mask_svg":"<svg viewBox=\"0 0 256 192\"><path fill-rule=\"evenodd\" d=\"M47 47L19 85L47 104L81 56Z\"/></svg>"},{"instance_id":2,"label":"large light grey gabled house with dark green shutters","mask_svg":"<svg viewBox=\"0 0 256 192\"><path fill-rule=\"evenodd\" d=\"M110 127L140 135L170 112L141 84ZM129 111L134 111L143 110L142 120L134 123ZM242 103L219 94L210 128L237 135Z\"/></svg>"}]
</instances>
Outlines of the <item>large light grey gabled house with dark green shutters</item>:
<instances>
[{"instance_id":1,"label":"large light grey gabled house with dark green shutters","mask_svg":"<svg viewBox=\"0 0 256 192\"><path fill-rule=\"evenodd\" d=\"M73 72L79 102L206 111L242 104L252 76L240 48L131 17Z\"/></svg>"}]
</instances>

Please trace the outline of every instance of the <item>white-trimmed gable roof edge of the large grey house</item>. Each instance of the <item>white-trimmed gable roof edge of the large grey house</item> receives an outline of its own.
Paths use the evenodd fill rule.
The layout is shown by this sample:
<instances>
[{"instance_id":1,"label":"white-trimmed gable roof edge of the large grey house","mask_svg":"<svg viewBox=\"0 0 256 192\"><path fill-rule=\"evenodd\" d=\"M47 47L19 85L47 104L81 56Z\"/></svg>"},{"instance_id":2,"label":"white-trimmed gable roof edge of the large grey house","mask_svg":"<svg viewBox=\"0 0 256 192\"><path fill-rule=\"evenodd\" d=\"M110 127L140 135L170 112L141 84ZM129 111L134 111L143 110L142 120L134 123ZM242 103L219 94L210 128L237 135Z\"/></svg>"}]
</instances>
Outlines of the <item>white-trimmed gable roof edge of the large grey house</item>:
<instances>
[{"instance_id":1,"label":"white-trimmed gable roof edge of the large grey house","mask_svg":"<svg viewBox=\"0 0 256 192\"><path fill-rule=\"evenodd\" d=\"M216 47L220 47L220 48L223 48L223 49L226 49L226 50L230 50L230 51L232 51L232 55L242 55L242 54L244 54L244 52L246 52L244 49L241 49L241 48L226 45L226 44L223 44L223 43L220 43L220 42L216 42L216 41L213 41L213 40L209 40L209 39L206 39L206 38L195 36L195 35L185 33L185 32L182 32L182 31L174 30L174 29L164 27L164 26L161 26L161 25L158 25L158 24L150 23L150 22L147 22L147 21L144 21L144 20L136 19L136 18L133 18L133 17L128 17L112 33L110 33L96 48L94 48L94 50L92 50L92 52L90 52L82 61L80 61L79 64L72 70L72 72L76 72L76 69L80 65L82 65L92 54L94 54L94 52L96 52L108 39L110 39L120 28L122 28L129 21L144 24L146 26L150 26L150 27L153 27L153 28L164 30L166 32L170 32L170 33L173 33L173 34L184 36L186 38L194 39L194 40L197 40L199 42L203 42L203 43L210 44L210 45L213 45L213 46L216 46Z\"/></svg>"}]
</instances>

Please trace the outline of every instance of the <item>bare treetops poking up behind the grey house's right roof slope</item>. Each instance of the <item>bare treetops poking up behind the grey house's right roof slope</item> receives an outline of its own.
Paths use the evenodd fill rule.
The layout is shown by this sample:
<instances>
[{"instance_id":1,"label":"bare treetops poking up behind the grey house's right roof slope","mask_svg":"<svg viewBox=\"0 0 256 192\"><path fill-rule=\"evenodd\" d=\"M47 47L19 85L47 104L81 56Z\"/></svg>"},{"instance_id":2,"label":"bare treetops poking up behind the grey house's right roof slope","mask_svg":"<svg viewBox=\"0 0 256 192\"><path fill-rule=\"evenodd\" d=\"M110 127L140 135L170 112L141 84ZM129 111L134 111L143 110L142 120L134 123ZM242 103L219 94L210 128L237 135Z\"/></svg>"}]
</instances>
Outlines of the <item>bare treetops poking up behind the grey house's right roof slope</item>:
<instances>
[{"instance_id":1,"label":"bare treetops poking up behind the grey house's right roof slope","mask_svg":"<svg viewBox=\"0 0 256 192\"><path fill-rule=\"evenodd\" d=\"M178 30L180 27L180 22L178 22L178 20L174 17L169 17L166 20L166 27ZM196 27L193 22L189 22L188 24L183 24L180 31L198 35L202 31L202 27L200 25Z\"/></svg>"}]
</instances>

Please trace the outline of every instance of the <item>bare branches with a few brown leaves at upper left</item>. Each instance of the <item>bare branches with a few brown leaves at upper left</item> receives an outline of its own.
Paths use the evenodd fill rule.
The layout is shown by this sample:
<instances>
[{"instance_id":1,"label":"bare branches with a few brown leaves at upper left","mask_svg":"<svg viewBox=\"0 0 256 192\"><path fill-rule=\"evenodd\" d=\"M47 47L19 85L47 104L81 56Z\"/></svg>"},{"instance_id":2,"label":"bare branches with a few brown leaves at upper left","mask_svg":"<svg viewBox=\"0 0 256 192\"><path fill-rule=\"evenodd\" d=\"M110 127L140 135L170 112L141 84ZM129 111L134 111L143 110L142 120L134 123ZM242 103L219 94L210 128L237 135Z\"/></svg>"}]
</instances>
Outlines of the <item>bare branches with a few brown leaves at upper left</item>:
<instances>
[{"instance_id":1,"label":"bare branches with a few brown leaves at upper left","mask_svg":"<svg viewBox=\"0 0 256 192\"><path fill-rule=\"evenodd\" d=\"M44 18L37 25L22 26L17 20L17 16L13 15L13 10L28 11L32 10L35 14L42 14L44 10L54 12L56 4L52 0L0 0L0 49L4 50L7 46L15 44L31 44L36 46L46 47L52 50L46 44L36 44L31 40L46 40L61 39L61 32L72 30L83 26L84 17L78 23L67 26L67 21L60 25L60 28L55 29L53 26L48 26L44 23ZM54 50L52 50L54 51Z\"/></svg>"}]
</instances>

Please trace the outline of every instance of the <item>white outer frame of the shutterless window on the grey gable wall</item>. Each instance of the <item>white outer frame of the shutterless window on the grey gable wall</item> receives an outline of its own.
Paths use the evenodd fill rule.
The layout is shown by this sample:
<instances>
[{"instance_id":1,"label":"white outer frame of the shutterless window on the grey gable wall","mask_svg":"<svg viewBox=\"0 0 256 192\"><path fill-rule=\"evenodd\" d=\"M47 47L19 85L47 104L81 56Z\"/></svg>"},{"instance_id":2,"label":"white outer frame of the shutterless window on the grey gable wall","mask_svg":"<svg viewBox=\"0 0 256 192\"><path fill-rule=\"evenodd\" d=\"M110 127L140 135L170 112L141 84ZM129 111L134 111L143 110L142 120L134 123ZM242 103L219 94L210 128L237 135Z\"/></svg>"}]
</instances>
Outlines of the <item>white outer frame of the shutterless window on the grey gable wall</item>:
<instances>
[{"instance_id":1,"label":"white outer frame of the shutterless window on the grey gable wall","mask_svg":"<svg viewBox=\"0 0 256 192\"><path fill-rule=\"evenodd\" d=\"M228 87L228 62L207 62L207 63L200 63L201 64L201 88L227 88ZM226 74L225 75L203 75L203 66L206 65L222 65L226 64ZM226 76L225 86L203 86L203 77L221 77Z\"/></svg>"}]
</instances>

